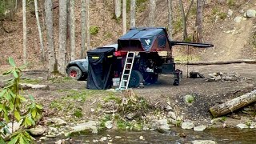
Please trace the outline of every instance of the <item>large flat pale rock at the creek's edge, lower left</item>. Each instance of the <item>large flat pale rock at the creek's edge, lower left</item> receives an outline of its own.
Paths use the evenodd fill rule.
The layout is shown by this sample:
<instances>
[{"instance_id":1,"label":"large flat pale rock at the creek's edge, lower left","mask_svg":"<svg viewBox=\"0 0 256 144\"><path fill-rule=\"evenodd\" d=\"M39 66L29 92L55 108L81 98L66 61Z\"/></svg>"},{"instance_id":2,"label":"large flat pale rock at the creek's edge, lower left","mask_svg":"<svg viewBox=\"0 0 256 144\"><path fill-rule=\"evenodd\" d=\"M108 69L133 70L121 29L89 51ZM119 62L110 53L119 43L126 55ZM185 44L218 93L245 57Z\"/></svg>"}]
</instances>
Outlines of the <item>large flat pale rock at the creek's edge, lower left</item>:
<instances>
[{"instance_id":1,"label":"large flat pale rock at the creek's edge, lower left","mask_svg":"<svg viewBox=\"0 0 256 144\"><path fill-rule=\"evenodd\" d=\"M97 129L97 123L95 121L89 121L89 122L84 122L81 124L78 124L77 126L73 126L70 128L70 133L69 134L76 134L76 133L98 133Z\"/></svg>"}]
</instances>

